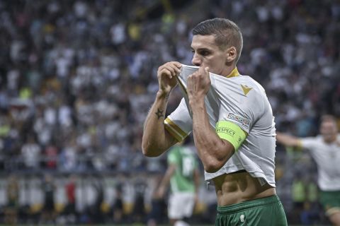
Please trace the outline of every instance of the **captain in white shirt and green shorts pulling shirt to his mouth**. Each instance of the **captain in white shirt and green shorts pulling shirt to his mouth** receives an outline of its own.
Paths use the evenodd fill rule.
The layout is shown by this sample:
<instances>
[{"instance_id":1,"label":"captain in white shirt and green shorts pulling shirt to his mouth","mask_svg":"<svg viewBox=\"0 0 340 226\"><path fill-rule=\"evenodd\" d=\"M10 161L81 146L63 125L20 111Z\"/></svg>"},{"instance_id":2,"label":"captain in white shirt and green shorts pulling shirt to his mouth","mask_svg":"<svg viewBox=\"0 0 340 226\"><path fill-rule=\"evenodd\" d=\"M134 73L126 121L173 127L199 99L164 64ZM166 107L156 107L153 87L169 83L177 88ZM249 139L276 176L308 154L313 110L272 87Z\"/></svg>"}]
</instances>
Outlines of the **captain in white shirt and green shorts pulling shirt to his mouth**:
<instances>
[{"instance_id":1,"label":"captain in white shirt and green shorts pulling shirt to his mouth","mask_svg":"<svg viewBox=\"0 0 340 226\"><path fill-rule=\"evenodd\" d=\"M261 85L237 70L242 46L242 33L231 20L214 18L193 28L192 63L199 69L186 81L188 102L183 98L164 120L183 66L176 61L160 66L159 90L145 120L142 151L149 157L161 155L192 131L205 180L215 184L215 225L287 225L275 189L271 105ZM209 111L208 94L216 100Z\"/></svg>"}]
</instances>

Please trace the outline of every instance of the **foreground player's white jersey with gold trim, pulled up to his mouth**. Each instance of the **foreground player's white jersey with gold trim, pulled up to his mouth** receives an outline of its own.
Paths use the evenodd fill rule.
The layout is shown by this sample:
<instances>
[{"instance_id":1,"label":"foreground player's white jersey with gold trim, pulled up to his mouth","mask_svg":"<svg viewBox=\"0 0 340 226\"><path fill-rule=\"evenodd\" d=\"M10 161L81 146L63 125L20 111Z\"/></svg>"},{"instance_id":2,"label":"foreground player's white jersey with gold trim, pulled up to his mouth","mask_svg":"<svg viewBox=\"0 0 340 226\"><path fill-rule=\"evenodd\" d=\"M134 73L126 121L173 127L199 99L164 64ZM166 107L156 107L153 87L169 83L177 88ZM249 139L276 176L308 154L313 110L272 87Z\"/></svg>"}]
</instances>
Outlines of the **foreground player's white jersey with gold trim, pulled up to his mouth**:
<instances>
[{"instance_id":1,"label":"foreground player's white jersey with gold trim, pulled up to his mouth","mask_svg":"<svg viewBox=\"0 0 340 226\"><path fill-rule=\"evenodd\" d=\"M186 78L197 69L196 66L182 65L179 78L184 98L164 121L166 130L179 141L193 129L185 88ZM249 76L239 75L236 68L227 77L210 73L210 81L205 106L211 126L216 129L218 121L231 121L248 136L220 170L205 172L205 180L245 169L252 177L259 178L261 184L267 182L275 186L276 130L264 89Z\"/></svg>"}]
</instances>

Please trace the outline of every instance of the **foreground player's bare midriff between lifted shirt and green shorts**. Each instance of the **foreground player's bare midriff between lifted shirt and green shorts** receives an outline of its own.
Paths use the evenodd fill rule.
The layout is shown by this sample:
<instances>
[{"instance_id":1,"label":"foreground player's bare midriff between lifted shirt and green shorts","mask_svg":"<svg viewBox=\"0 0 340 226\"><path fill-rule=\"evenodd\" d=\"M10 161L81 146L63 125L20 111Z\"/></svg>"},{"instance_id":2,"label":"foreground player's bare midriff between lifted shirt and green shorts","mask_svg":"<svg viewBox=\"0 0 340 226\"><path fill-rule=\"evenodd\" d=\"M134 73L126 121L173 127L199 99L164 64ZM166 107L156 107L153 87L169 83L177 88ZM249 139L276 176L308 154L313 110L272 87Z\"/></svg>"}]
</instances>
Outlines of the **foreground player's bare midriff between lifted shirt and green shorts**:
<instances>
[{"instance_id":1,"label":"foreground player's bare midriff between lifted shirt and green shorts","mask_svg":"<svg viewBox=\"0 0 340 226\"><path fill-rule=\"evenodd\" d=\"M227 206L242 201L264 198L276 194L269 184L261 186L258 179L244 170L232 174L222 174L213 179L218 206Z\"/></svg>"}]
</instances>

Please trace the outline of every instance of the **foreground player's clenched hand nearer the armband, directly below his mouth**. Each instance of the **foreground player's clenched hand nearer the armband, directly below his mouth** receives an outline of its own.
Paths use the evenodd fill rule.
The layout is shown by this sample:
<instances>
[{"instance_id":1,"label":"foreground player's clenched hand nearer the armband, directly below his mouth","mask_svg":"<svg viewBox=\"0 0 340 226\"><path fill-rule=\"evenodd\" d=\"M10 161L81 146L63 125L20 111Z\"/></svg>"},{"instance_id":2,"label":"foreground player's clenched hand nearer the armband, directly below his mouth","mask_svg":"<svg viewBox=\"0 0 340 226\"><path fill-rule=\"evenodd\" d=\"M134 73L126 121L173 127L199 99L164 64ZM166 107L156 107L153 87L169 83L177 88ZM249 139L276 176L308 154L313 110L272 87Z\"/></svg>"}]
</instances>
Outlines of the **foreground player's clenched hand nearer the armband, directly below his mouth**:
<instances>
[{"instance_id":1,"label":"foreground player's clenched hand nearer the armband, directly below his mouth","mask_svg":"<svg viewBox=\"0 0 340 226\"><path fill-rule=\"evenodd\" d=\"M195 71L188 76L187 92L189 100L196 102L200 98L204 98L210 89L209 68L200 66L198 71Z\"/></svg>"}]
</instances>

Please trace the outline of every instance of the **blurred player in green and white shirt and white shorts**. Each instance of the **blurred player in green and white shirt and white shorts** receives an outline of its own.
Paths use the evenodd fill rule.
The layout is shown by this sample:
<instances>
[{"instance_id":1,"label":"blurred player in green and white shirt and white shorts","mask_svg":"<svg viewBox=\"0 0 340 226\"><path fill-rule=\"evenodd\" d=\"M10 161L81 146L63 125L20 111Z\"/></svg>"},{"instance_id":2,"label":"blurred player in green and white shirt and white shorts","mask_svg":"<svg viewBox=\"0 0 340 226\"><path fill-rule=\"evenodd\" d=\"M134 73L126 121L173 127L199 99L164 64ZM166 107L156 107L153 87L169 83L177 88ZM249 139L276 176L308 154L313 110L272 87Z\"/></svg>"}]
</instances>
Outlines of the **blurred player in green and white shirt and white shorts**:
<instances>
[{"instance_id":1,"label":"blurred player in green and white shirt and white shorts","mask_svg":"<svg viewBox=\"0 0 340 226\"><path fill-rule=\"evenodd\" d=\"M198 201L200 176L196 155L187 145L176 145L169 151L167 160L168 168L156 191L157 196L164 197L170 184L171 194L168 203L170 223L174 226L187 226L186 220L193 214L193 208Z\"/></svg>"}]
</instances>

